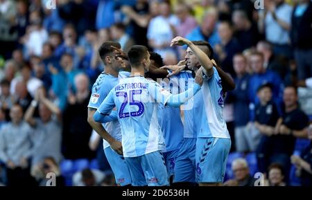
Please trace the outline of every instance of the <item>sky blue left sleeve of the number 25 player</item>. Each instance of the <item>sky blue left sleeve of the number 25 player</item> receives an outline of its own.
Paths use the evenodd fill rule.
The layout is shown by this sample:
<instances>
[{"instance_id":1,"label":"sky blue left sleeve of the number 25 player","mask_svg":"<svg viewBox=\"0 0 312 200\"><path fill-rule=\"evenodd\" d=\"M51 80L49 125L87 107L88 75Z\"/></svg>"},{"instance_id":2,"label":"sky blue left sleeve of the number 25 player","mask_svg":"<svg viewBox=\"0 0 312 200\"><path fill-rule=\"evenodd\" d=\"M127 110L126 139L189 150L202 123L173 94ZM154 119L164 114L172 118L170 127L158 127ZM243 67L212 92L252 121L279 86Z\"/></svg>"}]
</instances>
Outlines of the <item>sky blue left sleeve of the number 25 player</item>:
<instances>
[{"instance_id":1,"label":"sky blue left sleeve of the number 25 player","mask_svg":"<svg viewBox=\"0 0 312 200\"><path fill-rule=\"evenodd\" d=\"M105 118L110 115L112 109L114 109L114 89L110 91L105 100L101 103L100 107L98 107L97 111L94 113L94 121L103 122ZM110 118L110 117L109 117ZM107 120L107 119L106 119Z\"/></svg>"}]
</instances>

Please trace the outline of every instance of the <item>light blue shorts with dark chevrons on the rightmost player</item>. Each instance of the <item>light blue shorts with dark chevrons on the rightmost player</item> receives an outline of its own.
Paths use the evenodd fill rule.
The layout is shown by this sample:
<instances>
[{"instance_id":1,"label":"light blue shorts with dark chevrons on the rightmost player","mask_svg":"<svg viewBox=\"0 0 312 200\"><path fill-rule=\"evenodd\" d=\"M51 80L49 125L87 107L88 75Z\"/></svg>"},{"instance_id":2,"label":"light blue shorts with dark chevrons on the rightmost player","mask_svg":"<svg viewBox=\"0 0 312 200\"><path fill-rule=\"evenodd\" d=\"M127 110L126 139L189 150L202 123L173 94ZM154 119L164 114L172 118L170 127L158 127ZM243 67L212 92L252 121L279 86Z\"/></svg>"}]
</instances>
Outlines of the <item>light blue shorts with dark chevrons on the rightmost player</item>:
<instances>
[{"instance_id":1,"label":"light blue shorts with dark chevrons on the rightmost player","mask_svg":"<svg viewBox=\"0 0 312 200\"><path fill-rule=\"evenodd\" d=\"M229 138L197 138L197 183L223 183L229 149L231 149Z\"/></svg>"}]
</instances>

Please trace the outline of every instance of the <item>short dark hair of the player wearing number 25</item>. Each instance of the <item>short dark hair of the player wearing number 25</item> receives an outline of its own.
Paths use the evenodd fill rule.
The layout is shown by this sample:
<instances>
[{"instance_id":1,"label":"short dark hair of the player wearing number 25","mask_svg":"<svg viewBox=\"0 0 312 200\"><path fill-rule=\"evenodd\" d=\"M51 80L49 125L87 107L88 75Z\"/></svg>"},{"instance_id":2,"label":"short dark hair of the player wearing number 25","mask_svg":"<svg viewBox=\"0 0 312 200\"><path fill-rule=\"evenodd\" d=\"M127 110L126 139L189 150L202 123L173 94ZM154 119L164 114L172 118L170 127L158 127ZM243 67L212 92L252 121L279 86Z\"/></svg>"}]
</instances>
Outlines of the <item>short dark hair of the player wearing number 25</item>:
<instances>
[{"instance_id":1,"label":"short dark hair of the player wearing number 25","mask_svg":"<svg viewBox=\"0 0 312 200\"><path fill-rule=\"evenodd\" d=\"M134 45L128 51L128 60L131 66L139 66L142 60L146 58L148 48L142 45Z\"/></svg>"}]
</instances>

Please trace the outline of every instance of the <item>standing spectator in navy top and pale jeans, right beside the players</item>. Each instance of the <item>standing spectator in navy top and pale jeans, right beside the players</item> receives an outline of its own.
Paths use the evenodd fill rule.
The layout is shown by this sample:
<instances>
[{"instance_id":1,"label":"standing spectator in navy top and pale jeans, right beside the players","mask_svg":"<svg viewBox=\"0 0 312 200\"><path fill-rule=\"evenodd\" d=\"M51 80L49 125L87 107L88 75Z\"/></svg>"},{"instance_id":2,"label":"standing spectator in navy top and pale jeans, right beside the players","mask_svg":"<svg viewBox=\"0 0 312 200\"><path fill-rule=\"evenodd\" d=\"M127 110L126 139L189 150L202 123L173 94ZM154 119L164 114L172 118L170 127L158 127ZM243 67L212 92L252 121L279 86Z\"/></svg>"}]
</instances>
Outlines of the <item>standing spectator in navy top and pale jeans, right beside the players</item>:
<instances>
[{"instance_id":1,"label":"standing spectator in navy top and pale jeans, right beside the players","mask_svg":"<svg viewBox=\"0 0 312 200\"><path fill-rule=\"evenodd\" d=\"M247 124L250 120L249 113L249 80L250 75L247 73L247 60L242 54L236 54L233 57L234 71L236 78L234 79L236 88L229 93L234 102L234 136L237 152L254 151L254 140L252 134L248 131Z\"/></svg>"}]
</instances>

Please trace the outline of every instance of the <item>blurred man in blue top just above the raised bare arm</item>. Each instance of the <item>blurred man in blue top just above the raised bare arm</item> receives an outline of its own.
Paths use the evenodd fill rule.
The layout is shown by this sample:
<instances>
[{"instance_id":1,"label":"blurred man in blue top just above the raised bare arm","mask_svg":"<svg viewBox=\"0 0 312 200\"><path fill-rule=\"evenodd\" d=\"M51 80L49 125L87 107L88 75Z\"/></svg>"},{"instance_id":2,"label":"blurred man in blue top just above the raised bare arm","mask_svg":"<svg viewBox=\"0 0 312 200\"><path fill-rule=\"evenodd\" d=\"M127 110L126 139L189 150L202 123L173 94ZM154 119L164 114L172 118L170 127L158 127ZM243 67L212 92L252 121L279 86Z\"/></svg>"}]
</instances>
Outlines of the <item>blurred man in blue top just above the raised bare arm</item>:
<instances>
[{"instance_id":1,"label":"blurred man in blue top just above the raised bare arm","mask_svg":"<svg viewBox=\"0 0 312 200\"><path fill-rule=\"evenodd\" d=\"M186 38L191 41L204 40L209 42L211 46L215 46L220 42L220 37L216 31L217 20L218 12L214 9L208 10L202 19L202 24L191 30Z\"/></svg>"}]
</instances>

